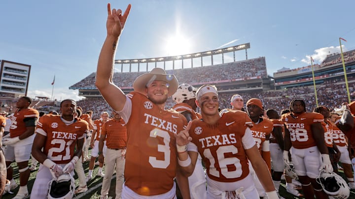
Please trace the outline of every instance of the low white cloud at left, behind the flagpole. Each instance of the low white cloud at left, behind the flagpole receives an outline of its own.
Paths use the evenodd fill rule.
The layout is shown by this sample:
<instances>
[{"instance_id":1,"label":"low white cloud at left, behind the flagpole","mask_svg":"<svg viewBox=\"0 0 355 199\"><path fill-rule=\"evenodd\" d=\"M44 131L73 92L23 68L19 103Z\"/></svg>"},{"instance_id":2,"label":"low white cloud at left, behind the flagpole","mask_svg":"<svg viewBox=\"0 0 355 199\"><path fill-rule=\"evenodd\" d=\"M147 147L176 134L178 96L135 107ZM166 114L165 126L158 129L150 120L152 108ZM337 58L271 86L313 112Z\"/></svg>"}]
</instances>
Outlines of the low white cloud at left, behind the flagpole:
<instances>
[{"instance_id":1,"label":"low white cloud at left, behind the flagpole","mask_svg":"<svg viewBox=\"0 0 355 199\"><path fill-rule=\"evenodd\" d=\"M29 90L27 92L27 95L30 96L31 98L35 98L36 96L51 98L52 97L52 89ZM84 97L78 96L78 90L70 90L68 87L60 87L60 88L54 87L53 99L57 99L58 101L61 101L61 100L68 99L68 98L77 101L77 100L80 100Z\"/></svg>"}]
</instances>

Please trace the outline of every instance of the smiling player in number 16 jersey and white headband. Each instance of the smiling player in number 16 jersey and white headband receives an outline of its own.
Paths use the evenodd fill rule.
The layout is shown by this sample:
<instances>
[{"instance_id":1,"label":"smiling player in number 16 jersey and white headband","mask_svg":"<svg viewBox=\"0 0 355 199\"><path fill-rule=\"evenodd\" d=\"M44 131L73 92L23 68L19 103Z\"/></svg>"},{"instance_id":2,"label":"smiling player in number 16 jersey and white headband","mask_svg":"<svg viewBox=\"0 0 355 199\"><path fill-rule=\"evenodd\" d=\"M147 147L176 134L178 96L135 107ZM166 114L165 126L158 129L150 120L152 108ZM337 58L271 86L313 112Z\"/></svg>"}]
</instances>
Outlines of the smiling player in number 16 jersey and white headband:
<instances>
[{"instance_id":1,"label":"smiling player in number 16 jersey and white headband","mask_svg":"<svg viewBox=\"0 0 355 199\"><path fill-rule=\"evenodd\" d=\"M278 199L270 172L251 136L248 114L229 111L218 114L218 93L214 85L202 85L196 93L202 120L190 121L177 136L178 163L188 176L201 154L207 168L207 198L259 198L248 159L269 199Z\"/></svg>"}]
</instances>

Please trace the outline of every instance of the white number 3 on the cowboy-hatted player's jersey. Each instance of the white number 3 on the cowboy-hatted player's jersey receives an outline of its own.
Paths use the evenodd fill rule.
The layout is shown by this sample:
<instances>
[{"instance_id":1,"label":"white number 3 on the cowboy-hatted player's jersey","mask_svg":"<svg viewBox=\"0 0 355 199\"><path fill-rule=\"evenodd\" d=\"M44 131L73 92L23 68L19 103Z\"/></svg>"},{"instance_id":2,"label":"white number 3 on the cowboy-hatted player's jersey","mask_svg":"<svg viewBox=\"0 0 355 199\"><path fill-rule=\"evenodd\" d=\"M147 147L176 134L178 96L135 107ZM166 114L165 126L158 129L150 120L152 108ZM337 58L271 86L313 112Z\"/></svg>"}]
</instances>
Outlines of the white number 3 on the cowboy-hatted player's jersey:
<instances>
[{"instance_id":1,"label":"white number 3 on the cowboy-hatted player's jersey","mask_svg":"<svg viewBox=\"0 0 355 199\"><path fill-rule=\"evenodd\" d=\"M166 169L170 164L170 135L167 131L161 129L153 129L150 131L150 137L156 138L157 136L164 140L164 145L158 144L158 152L164 153L164 160L157 160L156 157L149 156L149 164L153 168Z\"/></svg>"}]
</instances>

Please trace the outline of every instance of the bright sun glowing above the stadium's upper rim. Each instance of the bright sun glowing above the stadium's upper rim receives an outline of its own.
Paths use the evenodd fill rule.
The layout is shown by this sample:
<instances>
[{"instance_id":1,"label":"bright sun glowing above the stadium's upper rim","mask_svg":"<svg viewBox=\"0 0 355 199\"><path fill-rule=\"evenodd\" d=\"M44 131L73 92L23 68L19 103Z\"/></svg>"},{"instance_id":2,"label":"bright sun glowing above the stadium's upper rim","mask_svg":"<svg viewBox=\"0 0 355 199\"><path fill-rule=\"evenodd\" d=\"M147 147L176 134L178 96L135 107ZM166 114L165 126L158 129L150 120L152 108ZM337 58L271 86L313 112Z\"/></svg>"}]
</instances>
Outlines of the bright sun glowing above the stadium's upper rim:
<instances>
[{"instance_id":1,"label":"bright sun glowing above the stadium's upper rim","mask_svg":"<svg viewBox=\"0 0 355 199\"><path fill-rule=\"evenodd\" d=\"M165 50L168 56L184 55L190 52L190 41L183 35L177 34L167 39Z\"/></svg>"}]
</instances>

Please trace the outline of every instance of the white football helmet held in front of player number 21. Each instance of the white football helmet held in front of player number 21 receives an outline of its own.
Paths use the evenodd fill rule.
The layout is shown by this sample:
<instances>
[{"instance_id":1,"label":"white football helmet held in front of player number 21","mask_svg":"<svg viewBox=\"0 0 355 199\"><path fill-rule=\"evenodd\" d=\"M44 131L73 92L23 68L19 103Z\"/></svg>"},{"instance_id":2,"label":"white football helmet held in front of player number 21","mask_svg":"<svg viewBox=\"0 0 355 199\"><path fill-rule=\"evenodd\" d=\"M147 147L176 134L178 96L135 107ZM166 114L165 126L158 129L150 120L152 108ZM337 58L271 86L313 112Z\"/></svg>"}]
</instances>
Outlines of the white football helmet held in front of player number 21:
<instances>
[{"instance_id":1,"label":"white football helmet held in front of player number 21","mask_svg":"<svg viewBox=\"0 0 355 199\"><path fill-rule=\"evenodd\" d=\"M74 196L75 180L69 173L53 178L48 185L48 199L72 199Z\"/></svg>"}]
</instances>

